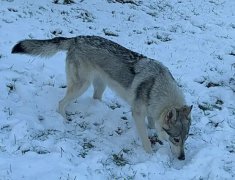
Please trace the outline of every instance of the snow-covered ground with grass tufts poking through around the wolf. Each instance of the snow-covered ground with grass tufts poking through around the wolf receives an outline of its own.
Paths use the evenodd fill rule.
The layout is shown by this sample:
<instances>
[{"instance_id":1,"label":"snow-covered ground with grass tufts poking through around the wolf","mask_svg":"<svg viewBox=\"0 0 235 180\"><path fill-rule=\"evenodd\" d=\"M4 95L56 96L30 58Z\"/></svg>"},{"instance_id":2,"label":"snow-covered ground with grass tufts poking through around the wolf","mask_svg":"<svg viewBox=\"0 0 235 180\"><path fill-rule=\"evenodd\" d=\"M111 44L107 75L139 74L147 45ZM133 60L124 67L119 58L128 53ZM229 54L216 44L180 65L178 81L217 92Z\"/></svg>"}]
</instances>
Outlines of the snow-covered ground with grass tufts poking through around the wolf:
<instances>
[{"instance_id":1,"label":"snow-covered ground with grass tufts poking through around the wolf","mask_svg":"<svg viewBox=\"0 0 235 180\"><path fill-rule=\"evenodd\" d=\"M131 1L130 1L131 2ZM235 1L0 1L0 179L235 179ZM144 152L130 107L92 88L56 112L64 53L12 55L25 38L100 35L163 62L193 104L186 160ZM111 35L111 36L110 36Z\"/></svg>"}]
</instances>

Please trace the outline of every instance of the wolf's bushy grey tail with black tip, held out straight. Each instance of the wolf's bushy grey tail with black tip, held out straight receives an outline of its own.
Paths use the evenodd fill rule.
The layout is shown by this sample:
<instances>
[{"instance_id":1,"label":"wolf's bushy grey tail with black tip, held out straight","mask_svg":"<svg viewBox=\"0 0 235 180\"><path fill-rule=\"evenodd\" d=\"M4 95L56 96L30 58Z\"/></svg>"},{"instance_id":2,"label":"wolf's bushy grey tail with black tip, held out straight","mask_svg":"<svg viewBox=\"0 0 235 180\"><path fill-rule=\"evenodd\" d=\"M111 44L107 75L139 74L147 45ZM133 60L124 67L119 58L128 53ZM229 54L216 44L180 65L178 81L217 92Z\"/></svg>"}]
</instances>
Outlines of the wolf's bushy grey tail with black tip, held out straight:
<instances>
[{"instance_id":1,"label":"wolf's bushy grey tail with black tip, held out straight","mask_svg":"<svg viewBox=\"0 0 235 180\"><path fill-rule=\"evenodd\" d=\"M27 39L18 42L11 53L50 57L58 51L67 51L73 38L56 37L48 40Z\"/></svg>"}]
</instances>

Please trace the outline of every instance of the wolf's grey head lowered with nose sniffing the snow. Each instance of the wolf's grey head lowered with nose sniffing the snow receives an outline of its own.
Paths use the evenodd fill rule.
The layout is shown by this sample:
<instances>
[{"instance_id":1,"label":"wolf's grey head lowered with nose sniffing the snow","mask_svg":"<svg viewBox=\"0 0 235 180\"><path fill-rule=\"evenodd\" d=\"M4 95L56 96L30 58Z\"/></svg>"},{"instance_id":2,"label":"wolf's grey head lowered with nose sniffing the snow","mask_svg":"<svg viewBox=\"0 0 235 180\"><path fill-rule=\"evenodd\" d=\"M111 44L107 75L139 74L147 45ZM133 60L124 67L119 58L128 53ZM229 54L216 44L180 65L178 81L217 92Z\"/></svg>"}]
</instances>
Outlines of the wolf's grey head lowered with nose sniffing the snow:
<instances>
[{"instance_id":1,"label":"wolf's grey head lowered with nose sniffing the snow","mask_svg":"<svg viewBox=\"0 0 235 180\"><path fill-rule=\"evenodd\" d=\"M163 130L168 135L167 141L171 150L179 160L185 159L184 143L188 138L191 125L191 110L193 106L172 108L168 111L163 120Z\"/></svg>"}]
</instances>

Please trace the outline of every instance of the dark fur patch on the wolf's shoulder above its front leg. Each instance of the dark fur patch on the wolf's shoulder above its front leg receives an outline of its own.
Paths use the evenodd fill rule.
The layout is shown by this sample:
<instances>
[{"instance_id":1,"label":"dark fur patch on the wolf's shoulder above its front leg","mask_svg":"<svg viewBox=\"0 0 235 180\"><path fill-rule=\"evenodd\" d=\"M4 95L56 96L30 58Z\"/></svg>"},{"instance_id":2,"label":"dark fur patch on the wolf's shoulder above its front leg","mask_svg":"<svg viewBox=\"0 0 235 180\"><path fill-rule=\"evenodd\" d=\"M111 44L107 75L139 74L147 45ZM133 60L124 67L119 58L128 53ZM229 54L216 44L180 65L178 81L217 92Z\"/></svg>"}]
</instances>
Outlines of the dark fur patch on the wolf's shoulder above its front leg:
<instances>
[{"instance_id":1,"label":"dark fur patch on the wolf's shoulder above its front leg","mask_svg":"<svg viewBox=\"0 0 235 180\"><path fill-rule=\"evenodd\" d=\"M150 77L149 79L141 82L136 89L136 99L142 99L144 102L148 102L154 82L154 77Z\"/></svg>"}]
</instances>

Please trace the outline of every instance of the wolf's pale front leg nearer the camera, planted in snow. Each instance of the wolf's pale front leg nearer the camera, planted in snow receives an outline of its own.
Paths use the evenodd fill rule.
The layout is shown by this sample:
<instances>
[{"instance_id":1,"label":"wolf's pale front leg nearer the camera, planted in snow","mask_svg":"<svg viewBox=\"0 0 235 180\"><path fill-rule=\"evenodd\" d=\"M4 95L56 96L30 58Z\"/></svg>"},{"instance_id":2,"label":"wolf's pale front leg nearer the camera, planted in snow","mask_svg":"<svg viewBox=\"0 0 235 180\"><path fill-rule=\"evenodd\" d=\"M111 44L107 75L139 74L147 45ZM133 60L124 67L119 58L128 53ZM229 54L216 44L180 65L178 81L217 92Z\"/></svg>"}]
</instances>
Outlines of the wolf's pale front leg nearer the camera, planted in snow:
<instances>
[{"instance_id":1,"label":"wolf's pale front leg nearer the camera, planted in snow","mask_svg":"<svg viewBox=\"0 0 235 180\"><path fill-rule=\"evenodd\" d=\"M140 139L141 139L142 144L144 146L144 150L147 153L153 153L153 150L151 147L151 142L148 138L147 127L145 124L146 113L144 111L144 108L134 107L132 109L132 115L135 120L136 128L139 133Z\"/></svg>"}]
</instances>

